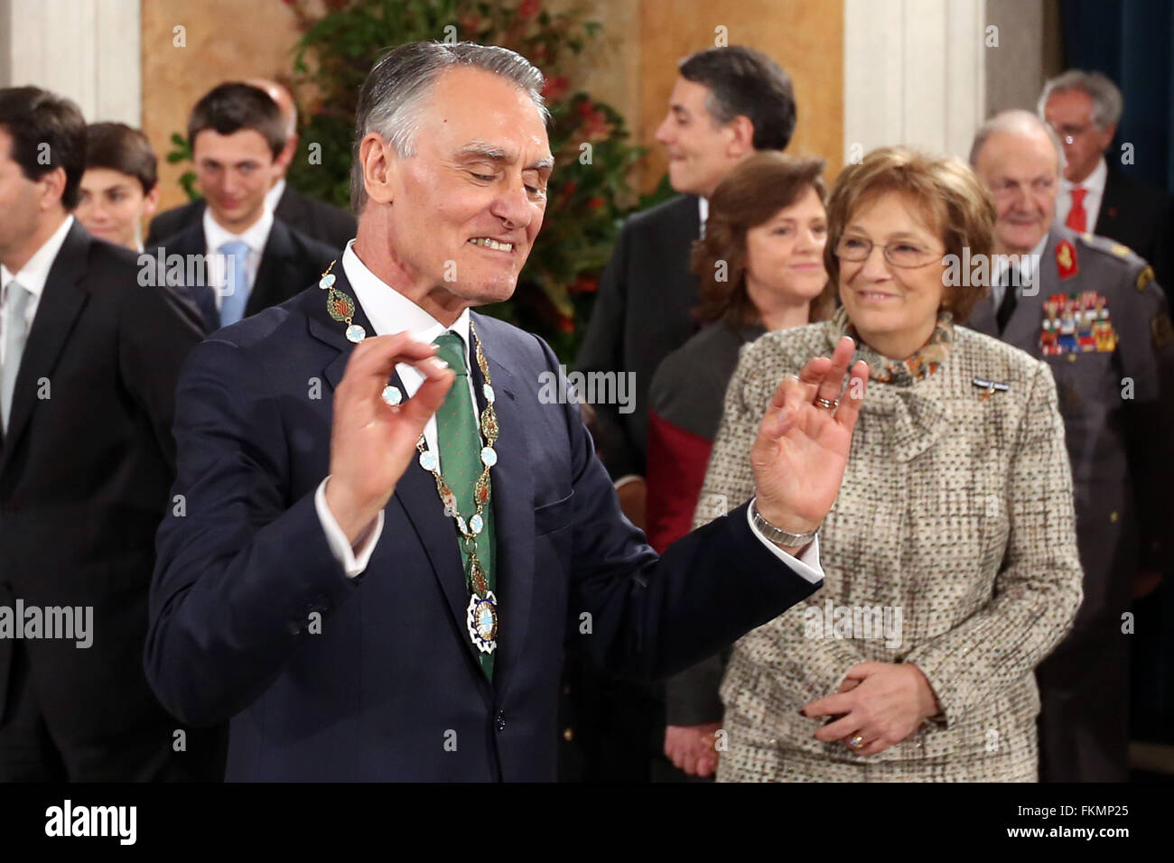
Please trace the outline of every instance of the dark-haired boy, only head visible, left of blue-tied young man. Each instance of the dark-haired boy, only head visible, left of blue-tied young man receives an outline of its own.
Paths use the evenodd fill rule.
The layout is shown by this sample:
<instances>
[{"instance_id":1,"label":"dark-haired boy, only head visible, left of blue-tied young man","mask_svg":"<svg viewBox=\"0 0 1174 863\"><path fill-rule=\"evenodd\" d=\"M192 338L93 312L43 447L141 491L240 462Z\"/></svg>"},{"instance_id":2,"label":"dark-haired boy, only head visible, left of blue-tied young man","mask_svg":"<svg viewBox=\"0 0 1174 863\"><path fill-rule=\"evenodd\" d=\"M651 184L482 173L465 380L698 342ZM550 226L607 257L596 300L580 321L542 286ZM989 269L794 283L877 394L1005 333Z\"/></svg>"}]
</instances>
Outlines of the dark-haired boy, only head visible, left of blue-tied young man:
<instances>
[{"instance_id":1,"label":"dark-haired boy, only head visible, left of blue-tied young man","mask_svg":"<svg viewBox=\"0 0 1174 863\"><path fill-rule=\"evenodd\" d=\"M158 160L126 123L86 127L86 173L74 216L99 240L143 250L143 220L158 205Z\"/></svg>"}]
</instances>

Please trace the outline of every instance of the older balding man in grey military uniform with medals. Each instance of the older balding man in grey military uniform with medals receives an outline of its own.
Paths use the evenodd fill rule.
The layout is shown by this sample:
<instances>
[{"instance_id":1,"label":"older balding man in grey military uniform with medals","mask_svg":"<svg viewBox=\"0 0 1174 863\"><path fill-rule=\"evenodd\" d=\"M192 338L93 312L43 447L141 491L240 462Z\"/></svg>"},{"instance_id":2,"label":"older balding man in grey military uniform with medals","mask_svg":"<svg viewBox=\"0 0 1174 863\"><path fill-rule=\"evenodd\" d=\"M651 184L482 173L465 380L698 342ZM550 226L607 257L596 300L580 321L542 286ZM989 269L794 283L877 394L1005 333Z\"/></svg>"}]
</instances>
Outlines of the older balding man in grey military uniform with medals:
<instances>
[{"instance_id":1,"label":"older balding man in grey military uniform with medals","mask_svg":"<svg viewBox=\"0 0 1174 863\"><path fill-rule=\"evenodd\" d=\"M1035 669L1040 778L1124 782L1133 635L1121 615L1135 584L1160 578L1174 535L1174 329L1145 261L1058 223L1062 163L1028 112L978 130L971 164L994 196L994 250L1017 257L967 325L1051 366L1072 459L1085 599Z\"/></svg>"}]
</instances>

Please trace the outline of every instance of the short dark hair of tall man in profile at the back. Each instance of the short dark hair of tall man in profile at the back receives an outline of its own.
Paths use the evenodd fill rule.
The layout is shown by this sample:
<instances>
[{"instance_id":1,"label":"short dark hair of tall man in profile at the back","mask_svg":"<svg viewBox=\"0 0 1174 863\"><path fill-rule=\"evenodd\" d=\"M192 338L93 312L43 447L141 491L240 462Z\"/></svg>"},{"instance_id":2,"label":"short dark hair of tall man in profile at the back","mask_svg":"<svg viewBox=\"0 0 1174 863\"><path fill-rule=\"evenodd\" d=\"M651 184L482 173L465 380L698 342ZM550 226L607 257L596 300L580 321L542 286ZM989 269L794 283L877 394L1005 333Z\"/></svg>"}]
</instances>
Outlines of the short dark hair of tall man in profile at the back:
<instances>
[{"instance_id":1,"label":"short dark hair of tall man in profile at the back","mask_svg":"<svg viewBox=\"0 0 1174 863\"><path fill-rule=\"evenodd\" d=\"M681 77L709 88L706 108L718 123L742 115L754 126L756 150L785 150L795 134L795 89L782 66L740 45L686 58Z\"/></svg>"}]
</instances>

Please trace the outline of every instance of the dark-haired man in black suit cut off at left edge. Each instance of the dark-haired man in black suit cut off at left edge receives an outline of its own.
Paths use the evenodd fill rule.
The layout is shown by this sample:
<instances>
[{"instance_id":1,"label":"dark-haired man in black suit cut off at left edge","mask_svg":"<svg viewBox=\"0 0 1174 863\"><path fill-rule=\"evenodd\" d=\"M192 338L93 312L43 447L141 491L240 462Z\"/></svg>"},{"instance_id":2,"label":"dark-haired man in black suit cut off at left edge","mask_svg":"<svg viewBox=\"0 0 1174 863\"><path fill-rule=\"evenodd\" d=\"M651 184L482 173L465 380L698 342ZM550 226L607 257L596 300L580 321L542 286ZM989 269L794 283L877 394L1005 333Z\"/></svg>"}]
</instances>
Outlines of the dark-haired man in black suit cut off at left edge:
<instances>
[{"instance_id":1,"label":"dark-haired man in black suit cut off at left edge","mask_svg":"<svg viewBox=\"0 0 1174 863\"><path fill-rule=\"evenodd\" d=\"M85 157L73 102L0 90L0 782L218 778L142 668L200 331L69 215Z\"/></svg>"}]
</instances>

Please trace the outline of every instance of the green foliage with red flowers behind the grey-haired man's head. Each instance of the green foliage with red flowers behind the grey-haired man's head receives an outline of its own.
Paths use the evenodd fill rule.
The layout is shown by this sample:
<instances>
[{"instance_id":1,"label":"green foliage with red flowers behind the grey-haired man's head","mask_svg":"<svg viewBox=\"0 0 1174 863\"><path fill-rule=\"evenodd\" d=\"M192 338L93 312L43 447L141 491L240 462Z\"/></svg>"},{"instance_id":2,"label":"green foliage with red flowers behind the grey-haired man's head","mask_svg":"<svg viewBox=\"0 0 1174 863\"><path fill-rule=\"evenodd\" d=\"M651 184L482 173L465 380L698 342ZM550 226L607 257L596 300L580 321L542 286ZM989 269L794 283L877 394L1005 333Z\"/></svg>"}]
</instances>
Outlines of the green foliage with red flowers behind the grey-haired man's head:
<instances>
[{"instance_id":1,"label":"green foliage with red flowers behind the grey-haired man's head","mask_svg":"<svg viewBox=\"0 0 1174 863\"><path fill-rule=\"evenodd\" d=\"M581 9L545 9L541 0L326 0L324 15L318 2L285 2L303 33L294 48L296 85L315 94L316 106L302 114L289 182L340 207L350 205L358 93L387 48L419 40L475 41L517 50L542 69L555 157L546 221L513 297L480 311L537 332L571 362L623 217L672 194L662 183L653 196L639 198L627 177L643 148L630 142L616 110L574 87L575 58L602 26L586 20ZM173 162L182 159L168 155Z\"/></svg>"}]
</instances>

